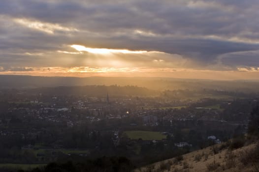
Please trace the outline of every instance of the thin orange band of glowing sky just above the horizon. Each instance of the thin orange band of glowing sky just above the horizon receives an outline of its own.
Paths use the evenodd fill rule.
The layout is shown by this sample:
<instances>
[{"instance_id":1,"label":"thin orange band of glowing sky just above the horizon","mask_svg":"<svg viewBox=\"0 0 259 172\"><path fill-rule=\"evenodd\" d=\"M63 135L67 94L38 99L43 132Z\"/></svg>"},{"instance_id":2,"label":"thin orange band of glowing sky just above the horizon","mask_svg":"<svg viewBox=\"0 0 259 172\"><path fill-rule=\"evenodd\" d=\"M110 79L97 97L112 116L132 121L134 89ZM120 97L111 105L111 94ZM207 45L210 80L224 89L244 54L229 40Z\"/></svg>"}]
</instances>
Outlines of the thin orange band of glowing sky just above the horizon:
<instances>
[{"instance_id":1,"label":"thin orange band of glowing sky just above the horizon","mask_svg":"<svg viewBox=\"0 0 259 172\"><path fill-rule=\"evenodd\" d=\"M259 79L259 71L212 71L183 68L147 67L27 67L28 71L0 71L0 75L62 77L167 77L183 79Z\"/></svg>"}]
</instances>

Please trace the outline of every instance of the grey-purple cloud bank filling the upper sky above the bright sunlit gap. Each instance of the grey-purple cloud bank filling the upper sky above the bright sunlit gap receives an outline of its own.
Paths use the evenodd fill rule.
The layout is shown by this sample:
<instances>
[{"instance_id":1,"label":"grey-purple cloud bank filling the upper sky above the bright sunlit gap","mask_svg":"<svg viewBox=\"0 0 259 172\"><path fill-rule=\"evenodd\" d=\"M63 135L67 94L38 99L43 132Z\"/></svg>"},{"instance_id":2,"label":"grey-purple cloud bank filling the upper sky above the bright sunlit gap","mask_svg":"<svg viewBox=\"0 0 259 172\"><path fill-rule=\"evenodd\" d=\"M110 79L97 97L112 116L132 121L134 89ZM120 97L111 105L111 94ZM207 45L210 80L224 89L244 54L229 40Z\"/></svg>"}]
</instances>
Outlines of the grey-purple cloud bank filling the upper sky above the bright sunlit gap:
<instances>
[{"instance_id":1,"label":"grey-purple cloud bank filling the upper sky above the bright sunlit gap","mask_svg":"<svg viewBox=\"0 0 259 172\"><path fill-rule=\"evenodd\" d=\"M34 54L66 51L71 44L177 54L194 68L219 60L250 66L258 58L249 63L238 52L259 50L258 9L258 0L1 0L0 66L23 58L28 66L28 58L44 61ZM16 18L46 23L50 31L19 25ZM78 31L65 30L71 27ZM226 54L231 57L220 58Z\"/></svg>"}]
</instances>

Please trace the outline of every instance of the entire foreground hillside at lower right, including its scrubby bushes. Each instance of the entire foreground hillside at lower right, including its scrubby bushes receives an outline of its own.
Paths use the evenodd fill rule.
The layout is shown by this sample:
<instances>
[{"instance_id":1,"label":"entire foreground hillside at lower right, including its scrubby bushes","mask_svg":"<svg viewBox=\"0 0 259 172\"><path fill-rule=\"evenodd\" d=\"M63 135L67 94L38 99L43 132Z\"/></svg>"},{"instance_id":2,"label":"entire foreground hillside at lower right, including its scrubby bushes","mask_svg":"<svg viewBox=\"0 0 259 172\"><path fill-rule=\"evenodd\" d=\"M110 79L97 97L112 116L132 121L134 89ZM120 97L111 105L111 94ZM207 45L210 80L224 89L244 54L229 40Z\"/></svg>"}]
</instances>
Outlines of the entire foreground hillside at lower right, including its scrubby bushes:
<instances>
[{"instance_id":1,"label":"entire foreground hillside at lower right, including its scrubby bushes","mask_svg":"<svg viewBox=\"0 0 259 172\"><path fill-rule=\"evenodd\" d=\"M258 142L234 150L230 150L227 144L209 146L135 172L259 172Z\"/></svg>"}]
</instances>

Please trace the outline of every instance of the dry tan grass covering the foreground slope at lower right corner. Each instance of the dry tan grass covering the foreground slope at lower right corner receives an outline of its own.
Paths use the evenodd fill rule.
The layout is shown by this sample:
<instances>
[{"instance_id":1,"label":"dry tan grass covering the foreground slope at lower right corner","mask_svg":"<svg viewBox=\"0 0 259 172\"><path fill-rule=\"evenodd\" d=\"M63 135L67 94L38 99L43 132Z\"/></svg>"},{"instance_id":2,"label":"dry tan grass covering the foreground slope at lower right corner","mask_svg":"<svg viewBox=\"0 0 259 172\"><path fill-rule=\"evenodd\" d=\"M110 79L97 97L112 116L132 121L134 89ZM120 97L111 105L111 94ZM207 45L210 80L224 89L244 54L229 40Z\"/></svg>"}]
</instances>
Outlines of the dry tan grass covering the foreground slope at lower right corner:
<instances>
[{"instance_id":1,"label":"dry tan grass covering the foreground slope at lower right corner","mask_svg":"<svg viewBox=\"0 0 259 172\"><path fill-rule=\"evenodd\" d=\"M154 169L150 172L257 172L252 165L245 166L240 160L240 152L250 150L256 143L243 146L235 150L216 150L207 147L182 156L182 158L172 158L162 162L154 163ZM217 146L221 146L220 144ZM174 163L172 163L174 162ZM177 163L176 163L177 162ZM161 168L162 165L162 168ZM166 168L165 168L166 167ZM141 168L142 172L146 167ZM139 172L139 171L135 171Z\"/></svg>"}]
</instances>

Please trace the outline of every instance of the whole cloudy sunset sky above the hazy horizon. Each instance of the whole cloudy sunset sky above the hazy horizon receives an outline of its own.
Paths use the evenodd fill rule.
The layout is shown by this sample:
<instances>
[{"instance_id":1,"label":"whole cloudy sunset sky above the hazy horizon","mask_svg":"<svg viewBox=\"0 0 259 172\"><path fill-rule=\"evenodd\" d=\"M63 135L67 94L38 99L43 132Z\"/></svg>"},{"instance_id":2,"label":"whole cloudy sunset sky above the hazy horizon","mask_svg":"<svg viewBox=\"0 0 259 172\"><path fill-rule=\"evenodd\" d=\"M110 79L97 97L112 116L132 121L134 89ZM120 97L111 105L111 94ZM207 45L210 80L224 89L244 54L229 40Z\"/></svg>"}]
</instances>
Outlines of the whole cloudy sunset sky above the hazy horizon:
<instances>
[{"instance_id":1,"label":"whole cloudy sunset sky above the hazy horizon","mask_svg":"<svg viewBox=\"0 0 259 172\"><path fill-rule=\"evenodd\" d=\"M0 74L259 79L259 0L0 0Z\"/></svg>"}]
</instances>

